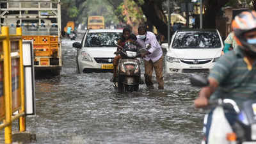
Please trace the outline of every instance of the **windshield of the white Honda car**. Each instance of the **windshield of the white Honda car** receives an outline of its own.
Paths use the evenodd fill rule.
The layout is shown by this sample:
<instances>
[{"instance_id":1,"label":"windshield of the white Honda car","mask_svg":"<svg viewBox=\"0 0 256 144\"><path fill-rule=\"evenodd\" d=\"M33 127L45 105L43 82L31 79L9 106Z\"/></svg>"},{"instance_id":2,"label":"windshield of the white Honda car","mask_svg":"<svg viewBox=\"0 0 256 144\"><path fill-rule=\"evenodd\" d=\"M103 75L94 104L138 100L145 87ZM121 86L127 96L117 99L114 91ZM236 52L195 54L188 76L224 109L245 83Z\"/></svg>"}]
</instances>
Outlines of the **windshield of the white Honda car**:
<instances>
[{"instance_id":1,"label":"windshield of the white Honda car","mask_svg":"<svg viewBox=\"0 0 256 144\"><path fill-rule=\"evenodd\" d=\"M221 47L221 41L216 32L180 32L175 36L172 47L175 49L218 48Z\"/></svg>"}]
</instances>

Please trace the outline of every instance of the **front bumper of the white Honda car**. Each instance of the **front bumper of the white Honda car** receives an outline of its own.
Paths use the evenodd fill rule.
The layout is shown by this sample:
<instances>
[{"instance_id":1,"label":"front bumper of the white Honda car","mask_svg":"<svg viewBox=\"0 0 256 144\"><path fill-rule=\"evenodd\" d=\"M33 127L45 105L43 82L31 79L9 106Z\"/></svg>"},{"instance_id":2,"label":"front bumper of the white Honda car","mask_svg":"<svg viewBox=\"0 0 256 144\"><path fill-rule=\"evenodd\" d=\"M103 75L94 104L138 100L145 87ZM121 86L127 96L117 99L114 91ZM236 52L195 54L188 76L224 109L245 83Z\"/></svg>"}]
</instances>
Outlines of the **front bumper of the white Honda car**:
<instances>
[{"instance_id":1,"label":"front bumper of the white Honda car","mask_svg":"<svg viewBox=\"0 0 256 144\"><path fill-rule=\"evenodd\" d=\"M209 72L209 70L214 66L214 62L209 62L205 64L189 65L186 63L170 63L169 61L164 61L166 73L190 73L190 72Z\"/></svg>"}]
</instances>

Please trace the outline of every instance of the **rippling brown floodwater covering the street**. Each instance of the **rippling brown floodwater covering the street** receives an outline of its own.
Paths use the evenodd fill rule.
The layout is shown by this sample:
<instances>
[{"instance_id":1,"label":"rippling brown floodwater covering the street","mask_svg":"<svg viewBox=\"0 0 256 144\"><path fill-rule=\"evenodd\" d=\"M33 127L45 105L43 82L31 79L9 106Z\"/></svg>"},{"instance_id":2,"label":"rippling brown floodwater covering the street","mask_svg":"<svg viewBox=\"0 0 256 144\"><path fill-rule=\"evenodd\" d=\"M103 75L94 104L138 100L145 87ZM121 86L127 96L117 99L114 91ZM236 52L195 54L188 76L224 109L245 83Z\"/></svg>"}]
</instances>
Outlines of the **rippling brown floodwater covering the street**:
<instances>
[{"instance_id":1,"label":"rippling brown floodwater covering the street","mask_svg":"<svg viewBox=\"0 0 256 144\"><path fill-rule=\"evenodd\" d=\"M35 143L200 143L204 113L193 108L189 74L164 75L163 91L116 93L111 73L76 73L73 42L63 39L61 75L36 79L36 116L27 118Z\"/></svg>"}]
</instances>

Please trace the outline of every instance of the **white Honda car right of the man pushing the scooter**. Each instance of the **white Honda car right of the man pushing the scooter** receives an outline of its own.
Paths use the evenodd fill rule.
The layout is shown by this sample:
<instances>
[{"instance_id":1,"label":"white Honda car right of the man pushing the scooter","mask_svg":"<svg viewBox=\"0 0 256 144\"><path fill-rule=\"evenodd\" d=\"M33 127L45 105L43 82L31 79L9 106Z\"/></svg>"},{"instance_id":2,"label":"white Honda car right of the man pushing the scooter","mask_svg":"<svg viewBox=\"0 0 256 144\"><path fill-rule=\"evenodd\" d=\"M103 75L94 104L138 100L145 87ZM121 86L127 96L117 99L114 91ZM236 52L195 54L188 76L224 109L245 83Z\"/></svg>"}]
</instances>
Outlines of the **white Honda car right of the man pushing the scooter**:
<instances>
[{"instance_id":1,"label":"white Honda car right of the man pushing the scooter","mask_svg":"<svg viewBox=\"0 0 256 144\"><path fill-rule=\"evenodd\" d=\"M167 53L167 73L209 72L221 56L223 42L217 29L186 29L176 31Z\"/></svg>"}]
</instances>

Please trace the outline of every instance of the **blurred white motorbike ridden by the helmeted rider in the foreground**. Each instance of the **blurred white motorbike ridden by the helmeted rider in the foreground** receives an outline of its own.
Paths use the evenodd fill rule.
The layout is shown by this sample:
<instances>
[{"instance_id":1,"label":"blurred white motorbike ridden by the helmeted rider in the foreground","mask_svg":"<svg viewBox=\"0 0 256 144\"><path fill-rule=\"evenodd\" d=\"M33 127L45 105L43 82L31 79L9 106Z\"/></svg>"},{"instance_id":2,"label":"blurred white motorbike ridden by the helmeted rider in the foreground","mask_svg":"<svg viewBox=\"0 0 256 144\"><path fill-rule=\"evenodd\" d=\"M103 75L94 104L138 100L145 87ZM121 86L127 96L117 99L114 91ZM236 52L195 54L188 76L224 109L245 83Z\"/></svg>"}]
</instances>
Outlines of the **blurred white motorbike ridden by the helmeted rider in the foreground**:
<instances>
[{"instance_id":1,"label":"blurred white motorbike ridden by the helmeted rider in the foreground","mask_svg":"<svg viewBox=\"0 0 256 144\"><path fill-rule=\"evenodd\" d=\"M197 75L191 76L190 81L194 86L202 87L209 85L207 79ZM212 124L207 144L256 143L256 100L246 100L241 108L232 99L209 100L209 106L215 109L212 114ZM236 122L232 126L227 122L224 115L225 111L227 111L224 108L227 107L232 108L232 111L235 111L237 114ZM218 121L213 120L214 115L219 118ZM202 141L202 144L205 144L205 140Z\"/></svg>"}]
</instances>

